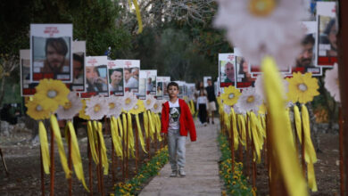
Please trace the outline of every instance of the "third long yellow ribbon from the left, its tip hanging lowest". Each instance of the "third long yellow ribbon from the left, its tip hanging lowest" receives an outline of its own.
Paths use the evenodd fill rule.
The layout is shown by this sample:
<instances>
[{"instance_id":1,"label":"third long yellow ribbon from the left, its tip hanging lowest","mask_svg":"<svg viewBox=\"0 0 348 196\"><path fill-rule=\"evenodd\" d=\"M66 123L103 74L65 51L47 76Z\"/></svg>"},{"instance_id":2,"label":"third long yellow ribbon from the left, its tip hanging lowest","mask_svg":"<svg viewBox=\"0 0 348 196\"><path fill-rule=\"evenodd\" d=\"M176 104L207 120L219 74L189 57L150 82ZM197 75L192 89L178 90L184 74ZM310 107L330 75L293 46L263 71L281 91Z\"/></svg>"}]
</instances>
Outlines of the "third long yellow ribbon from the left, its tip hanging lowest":
<instances>
[{"instance_id":1,"label":"third long yellow ribbon from the left, its tip hanging lowest","mask_svg":"<svg viewBox=\"0 0 348 196\"><path fill-rule=\"evenodd\" d=\"M81 181L81 183L83 184L83 187L85 187L86 191L89 192L85 182L85 176L83 175L81 155L79 153L78 137L75 134L75 128L72 126L72 123L70 120L67 123L67 127L70 130L71 159L72 159L72 164L74 166L75 174L78 177L79 181Z\"/></svg>"}]
</instances>

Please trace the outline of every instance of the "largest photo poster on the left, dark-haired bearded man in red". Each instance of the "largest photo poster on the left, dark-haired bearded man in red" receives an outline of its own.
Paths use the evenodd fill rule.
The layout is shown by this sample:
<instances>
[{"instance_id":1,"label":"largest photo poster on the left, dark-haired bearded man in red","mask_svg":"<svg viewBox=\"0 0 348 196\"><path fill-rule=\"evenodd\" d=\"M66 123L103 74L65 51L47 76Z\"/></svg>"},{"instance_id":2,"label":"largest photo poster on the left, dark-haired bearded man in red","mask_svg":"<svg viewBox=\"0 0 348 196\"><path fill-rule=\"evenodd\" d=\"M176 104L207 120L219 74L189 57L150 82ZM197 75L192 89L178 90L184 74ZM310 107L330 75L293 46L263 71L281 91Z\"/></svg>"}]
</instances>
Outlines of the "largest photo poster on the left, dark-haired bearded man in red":
<instances>
[{"instance_id":1,"label":"largest photo poster on the left, dark-haired bearded man in red","mask_svg":"<svg viewBox=\"0 0 348 196\"><path fill-rule=\"evenodd\" d=\"M30 24L31 82L72 82L72 24Z\"/></svg>"}]
</instances>

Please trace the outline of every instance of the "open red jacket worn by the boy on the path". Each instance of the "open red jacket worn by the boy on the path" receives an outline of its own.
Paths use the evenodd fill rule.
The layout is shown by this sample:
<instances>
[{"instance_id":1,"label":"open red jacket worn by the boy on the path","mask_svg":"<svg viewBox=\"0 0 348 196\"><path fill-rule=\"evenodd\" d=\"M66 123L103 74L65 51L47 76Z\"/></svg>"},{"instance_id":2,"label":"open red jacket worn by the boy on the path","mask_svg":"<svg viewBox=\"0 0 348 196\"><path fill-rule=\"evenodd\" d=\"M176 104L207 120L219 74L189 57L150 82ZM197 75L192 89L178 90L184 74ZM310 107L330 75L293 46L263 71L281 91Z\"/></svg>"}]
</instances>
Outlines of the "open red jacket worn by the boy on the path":
<instances>
[{"instance_id":1,"label":"open red jacket worn by the boy on the path","mask_svg":"<svg viewBox=\"0 0 348 196\"><path fill-rule=\"evenodd\" d=\"M192 114L186 104L182 99L178 99L178 105L180 106L180 118L178 119L180 124L180 135L187 136L187 133L190 132L191 141L194 142L197 138L195 134L195 123L192 118ZM163 103L162 107L162 128L161 133L167 134L168 127L170 126L170 103Z\"/></svg>"}]
</instances>

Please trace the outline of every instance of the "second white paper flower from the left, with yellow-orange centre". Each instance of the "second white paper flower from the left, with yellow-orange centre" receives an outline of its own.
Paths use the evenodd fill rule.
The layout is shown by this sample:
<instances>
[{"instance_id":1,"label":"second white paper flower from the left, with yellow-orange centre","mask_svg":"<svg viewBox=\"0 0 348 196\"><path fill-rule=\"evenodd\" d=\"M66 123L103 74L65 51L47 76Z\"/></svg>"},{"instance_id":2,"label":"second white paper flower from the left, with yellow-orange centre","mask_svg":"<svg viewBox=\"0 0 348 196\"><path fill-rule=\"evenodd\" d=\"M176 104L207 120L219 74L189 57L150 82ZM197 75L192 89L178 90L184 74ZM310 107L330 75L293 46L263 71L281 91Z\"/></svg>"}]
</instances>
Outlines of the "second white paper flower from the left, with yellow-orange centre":
<instances>
[{"instance_id":1,"label":"second white paper flower from the left, with yellow-orange centre","mask_svg":"<svg viewBox=\"0 0 348 196\"><path fill-rule=\"evenodd\" d=\"M93 96L86 102L86 114L92 119L101 119L109 112L109 105L104 97Z\"/></svg>"}]
</instances>

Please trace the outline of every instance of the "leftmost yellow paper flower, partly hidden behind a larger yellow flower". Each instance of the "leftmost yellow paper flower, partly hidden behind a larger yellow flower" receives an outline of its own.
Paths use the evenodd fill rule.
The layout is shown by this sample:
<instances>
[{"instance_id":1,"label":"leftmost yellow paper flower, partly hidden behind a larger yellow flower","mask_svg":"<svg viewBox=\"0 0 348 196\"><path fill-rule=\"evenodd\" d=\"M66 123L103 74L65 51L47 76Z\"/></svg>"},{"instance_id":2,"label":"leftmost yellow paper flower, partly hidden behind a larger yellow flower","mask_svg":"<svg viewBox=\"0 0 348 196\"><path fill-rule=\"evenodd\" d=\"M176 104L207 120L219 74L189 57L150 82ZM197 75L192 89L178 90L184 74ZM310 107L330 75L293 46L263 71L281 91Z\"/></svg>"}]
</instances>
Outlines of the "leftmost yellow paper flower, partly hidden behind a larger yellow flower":
<instances>
[{"instance_id":1,"label":"leftmost yellow paper flower, partly hidden behind a larger yellow flower","mask_svg":"<svg viewBox=\"0 0 348 196\"><path fill-rule=\"evenodd\" d=\"M34 98L32 101L28 101L25 106L28 108L27 114L34 119L46 119L50 117L51 110L42 105L42 102Z\"/></svg>"}]
</instances>

